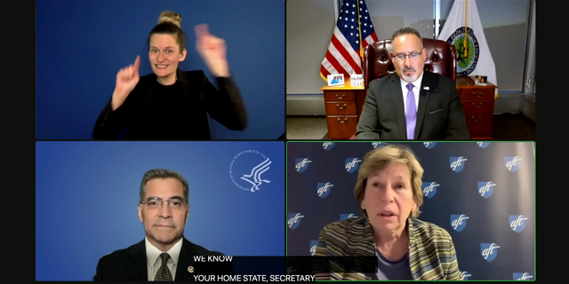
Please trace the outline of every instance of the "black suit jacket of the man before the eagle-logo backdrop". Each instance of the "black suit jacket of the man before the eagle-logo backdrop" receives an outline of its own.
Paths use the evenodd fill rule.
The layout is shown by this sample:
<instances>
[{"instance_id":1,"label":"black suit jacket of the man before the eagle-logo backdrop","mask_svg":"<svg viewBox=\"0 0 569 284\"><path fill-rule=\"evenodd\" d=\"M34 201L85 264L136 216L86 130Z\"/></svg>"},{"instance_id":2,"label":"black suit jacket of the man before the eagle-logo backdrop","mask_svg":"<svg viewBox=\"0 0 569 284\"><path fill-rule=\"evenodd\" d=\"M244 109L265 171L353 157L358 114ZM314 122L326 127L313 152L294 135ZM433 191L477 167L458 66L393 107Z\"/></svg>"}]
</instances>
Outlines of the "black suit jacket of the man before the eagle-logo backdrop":
<instances>
[{"instance_id":1,"label":"black suit jacket of the man before the eagle-logo backdrop","mask_svg":"<svg viewBox=\"0 0 569 284\"><path fill-rule=\"evenodd\" d=\"M198 246L191 241L183 239L180 257L176 265L175 281L194 281L194 275L234 275L230 263L204 264L194 262L194 256L223 256L220 252L212 251ZM194 267L194 272L188 272L188 267ZM215 271L212 271L215 270ZM174 272L172 272L173 274ZM173 275L172 275L173 276ZM148 281L148 266L146 260L145 241L132 245L129 248L119 249L103 256L97 264L97 272L93 277L95 281Z\"/></svg>"}]
</instances>

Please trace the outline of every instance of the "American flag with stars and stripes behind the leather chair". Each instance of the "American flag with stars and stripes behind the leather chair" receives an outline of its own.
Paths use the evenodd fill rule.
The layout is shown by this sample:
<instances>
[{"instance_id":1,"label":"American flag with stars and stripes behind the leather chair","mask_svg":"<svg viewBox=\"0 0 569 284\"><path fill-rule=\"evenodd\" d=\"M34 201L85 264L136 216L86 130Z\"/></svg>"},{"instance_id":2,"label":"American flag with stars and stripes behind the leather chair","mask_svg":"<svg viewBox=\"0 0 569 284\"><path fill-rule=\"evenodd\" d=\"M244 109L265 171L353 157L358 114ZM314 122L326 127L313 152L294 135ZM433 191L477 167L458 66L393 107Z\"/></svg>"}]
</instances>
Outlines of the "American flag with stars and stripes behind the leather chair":
<instances>
[{"instance_id":1,"label":"American flag with stars and stripes behind the leather chair","mask_svg":"<svg viewBox=\"0 0 569 284\"><path fill-rule=\"evenodd\" d=\"M365 0L344 0L332 42L320 66L320 76L328 81L327 75L343 74L349 78L349 75L362 74L365 46L377 41Z\"/></svg>"}]
</instances>

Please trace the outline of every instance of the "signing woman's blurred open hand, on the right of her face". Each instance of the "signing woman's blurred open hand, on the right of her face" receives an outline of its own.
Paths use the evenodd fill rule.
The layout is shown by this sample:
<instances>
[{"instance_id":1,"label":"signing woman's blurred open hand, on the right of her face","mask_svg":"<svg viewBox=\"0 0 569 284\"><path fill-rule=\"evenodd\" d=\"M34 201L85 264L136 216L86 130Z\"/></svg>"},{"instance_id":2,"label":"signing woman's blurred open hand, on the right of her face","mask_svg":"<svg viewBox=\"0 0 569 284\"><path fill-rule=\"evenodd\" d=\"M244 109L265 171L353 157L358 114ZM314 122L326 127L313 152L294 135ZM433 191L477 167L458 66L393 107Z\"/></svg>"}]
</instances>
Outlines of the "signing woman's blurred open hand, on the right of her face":
<instances>
[{"instance_id":1,"label":"signing woman's blurred open hand, on the right of her face","mask_svg":"<svg viewBox=\"0 0 569 284\"><path fill-rule=\"evenodd\" d=\"M209 33L207 24L197 25L196 51L216 77L228 77L229 67L225 41Z\"/></svg>"}]
</instances>

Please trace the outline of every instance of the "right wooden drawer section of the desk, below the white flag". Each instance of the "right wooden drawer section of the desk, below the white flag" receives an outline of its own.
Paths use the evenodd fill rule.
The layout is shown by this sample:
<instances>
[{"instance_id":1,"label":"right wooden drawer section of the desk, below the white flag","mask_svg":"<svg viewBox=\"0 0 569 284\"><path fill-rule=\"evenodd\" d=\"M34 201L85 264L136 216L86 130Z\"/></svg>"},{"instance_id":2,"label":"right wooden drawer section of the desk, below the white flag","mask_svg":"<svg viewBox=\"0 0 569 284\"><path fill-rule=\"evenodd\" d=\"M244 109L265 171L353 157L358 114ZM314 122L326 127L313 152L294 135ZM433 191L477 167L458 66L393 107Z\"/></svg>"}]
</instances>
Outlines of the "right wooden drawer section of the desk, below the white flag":
<instances>
[{"instance_id":1,"label":"right wooden drawer section of the desk, below the white flag","mask_svg":"<svg viewBox=\"0 0 569 284\"><path fill-rule=\"evenodd\" d=\"M456 89L461 96L466 124L473 140L492 139L494 94L496 85L475 84L475 77L456 78Z\"/></svg>"}]
</instances>

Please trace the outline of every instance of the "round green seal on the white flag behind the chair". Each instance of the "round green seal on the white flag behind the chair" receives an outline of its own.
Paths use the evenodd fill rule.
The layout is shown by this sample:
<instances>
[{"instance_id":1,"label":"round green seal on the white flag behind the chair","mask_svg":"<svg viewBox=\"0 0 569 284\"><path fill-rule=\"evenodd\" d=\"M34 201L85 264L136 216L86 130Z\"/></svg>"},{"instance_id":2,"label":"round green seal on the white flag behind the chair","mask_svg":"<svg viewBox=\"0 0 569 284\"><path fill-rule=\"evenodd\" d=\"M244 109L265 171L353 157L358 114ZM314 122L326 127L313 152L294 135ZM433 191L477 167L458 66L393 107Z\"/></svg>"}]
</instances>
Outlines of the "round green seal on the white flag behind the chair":
<instances>
[{"instance_id":1,"label":"round green seal on the white flag behind the chair","mask_svg":"<svg viewBox=\"0 0 569 284\"><path fill-rule=\"evenodd\" d=\"M466 48L464 47L465 37ZM480 55L477 37L474 36L472 28L467 27L466 32L464 27L456 29L453 35L446 40L446 43L451 43L456 47L456 74L459 77L470 75L477 68L478 56Z\"/></svg>"}]
</instances>

